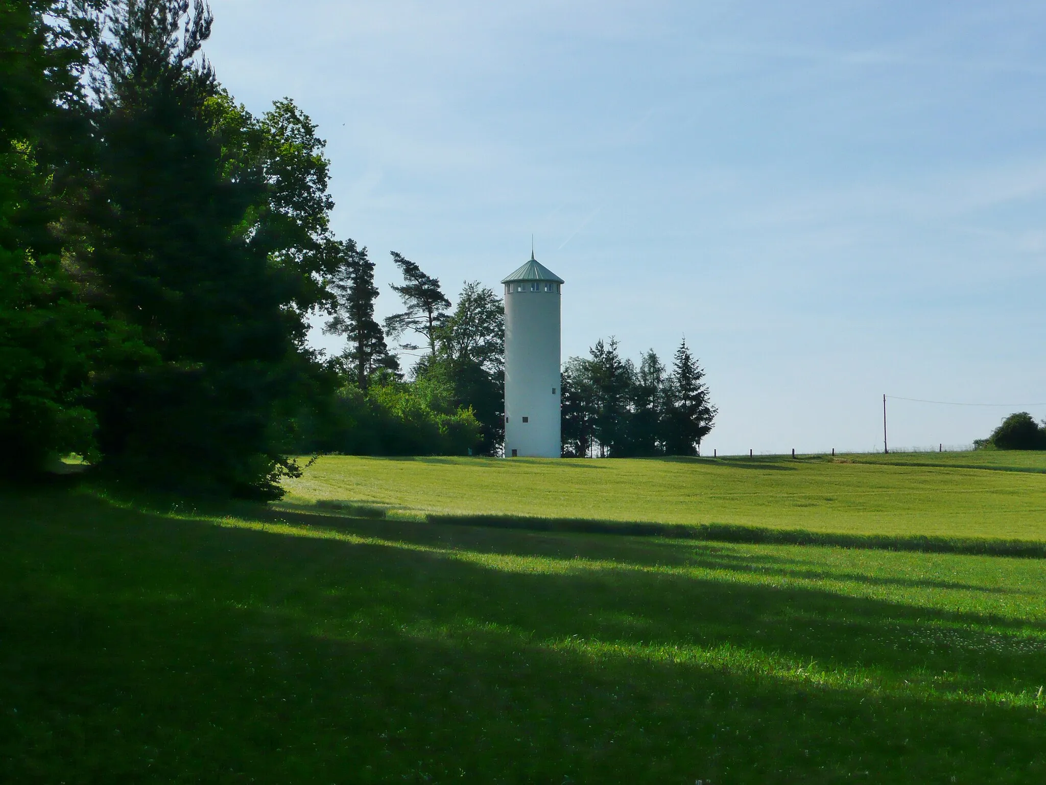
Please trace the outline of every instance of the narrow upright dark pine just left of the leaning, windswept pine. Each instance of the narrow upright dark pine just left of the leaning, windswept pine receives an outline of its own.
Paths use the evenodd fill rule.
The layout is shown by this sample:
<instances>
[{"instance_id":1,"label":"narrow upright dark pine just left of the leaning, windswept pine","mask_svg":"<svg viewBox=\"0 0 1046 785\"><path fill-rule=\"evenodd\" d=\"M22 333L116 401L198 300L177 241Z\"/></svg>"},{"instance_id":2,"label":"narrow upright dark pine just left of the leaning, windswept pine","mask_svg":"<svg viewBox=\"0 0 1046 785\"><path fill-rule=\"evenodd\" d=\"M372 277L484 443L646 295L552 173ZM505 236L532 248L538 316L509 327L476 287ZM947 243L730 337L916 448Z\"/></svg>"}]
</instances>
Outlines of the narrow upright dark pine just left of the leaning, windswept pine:
<instances>
[{"instance_id":1,"label":"narrow upright dark pine just left of the leaning, windswept pine","mask_svg":"<svg viewBox=\"0 0 1046 785\"><path fill-rule=\"evenodd\" d=\"M374 286L374 263L367 257L367 249L357 247L353 240L334 246L340 264L327 283L334 305L333 316L323 332L343 335L348 340L343 358L353 368L353 381L366 391L374 371L395 369L399 363L389 355L385 334L374 321L374 299L380 292Z\"/></svg>"}]
</instances>

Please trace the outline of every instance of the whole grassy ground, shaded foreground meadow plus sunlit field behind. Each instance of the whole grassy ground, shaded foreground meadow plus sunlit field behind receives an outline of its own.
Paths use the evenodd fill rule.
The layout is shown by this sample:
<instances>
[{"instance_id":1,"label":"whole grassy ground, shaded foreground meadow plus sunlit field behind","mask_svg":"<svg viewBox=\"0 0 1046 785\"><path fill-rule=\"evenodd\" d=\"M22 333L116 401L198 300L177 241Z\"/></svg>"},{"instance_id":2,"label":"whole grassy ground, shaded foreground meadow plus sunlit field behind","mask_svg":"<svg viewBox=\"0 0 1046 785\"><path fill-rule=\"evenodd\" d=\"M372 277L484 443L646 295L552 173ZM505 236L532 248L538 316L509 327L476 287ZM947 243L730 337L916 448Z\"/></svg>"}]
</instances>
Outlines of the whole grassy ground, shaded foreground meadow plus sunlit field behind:
<instances>
[{"instance_id":1,"label":"whole grassy ground, shaded foreground meadow plus sunlit field behind","mask_svg":"<svg viewBox=\"0 0 1046 785\"><path fill-rule=\"evenodd\" d=\"M1043 782L1046 560L423 520L1046 539L1039 456L983 459L324 458L276 510L0 491L0 781Z\"/></svg>"}]
</instances>

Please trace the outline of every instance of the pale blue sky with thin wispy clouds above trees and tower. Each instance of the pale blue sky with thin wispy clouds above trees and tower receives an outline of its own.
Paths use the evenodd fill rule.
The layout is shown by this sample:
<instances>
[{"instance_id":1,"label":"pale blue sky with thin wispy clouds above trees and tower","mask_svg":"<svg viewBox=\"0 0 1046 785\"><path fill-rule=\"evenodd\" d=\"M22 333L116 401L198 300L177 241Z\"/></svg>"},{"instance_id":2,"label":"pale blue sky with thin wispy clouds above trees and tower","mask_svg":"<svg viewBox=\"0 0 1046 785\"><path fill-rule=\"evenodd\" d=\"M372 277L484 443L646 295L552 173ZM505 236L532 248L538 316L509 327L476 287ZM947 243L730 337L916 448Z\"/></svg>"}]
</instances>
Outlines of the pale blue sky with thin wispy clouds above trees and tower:
<instances>
[{"instance_id":1,"label":"pale blue sky with thin wispy clouds above trees and tower","mask_svg":"<svg viewBox=\"0 0 1046 785\"><path fill-rule=\"evenodd\" d=\"M874 449L884 392L1046 403L1044 2L211 5L225 86L319 124L383 315L390 250L497 290L532 232L564 358L685 335L709 450ZM891 442L1008 410L894 401Z\"/></svg>"}]
</instances>

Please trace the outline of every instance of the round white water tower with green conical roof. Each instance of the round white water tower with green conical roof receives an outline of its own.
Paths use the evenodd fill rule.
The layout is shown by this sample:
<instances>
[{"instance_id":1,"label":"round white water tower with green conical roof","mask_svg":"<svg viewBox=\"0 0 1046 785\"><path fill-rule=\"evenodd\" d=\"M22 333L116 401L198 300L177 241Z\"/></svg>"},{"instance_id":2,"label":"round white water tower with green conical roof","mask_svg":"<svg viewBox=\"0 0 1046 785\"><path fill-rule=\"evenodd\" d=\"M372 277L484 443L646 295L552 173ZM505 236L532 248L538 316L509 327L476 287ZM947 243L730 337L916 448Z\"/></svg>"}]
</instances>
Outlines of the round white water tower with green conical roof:
<instances>
[{"instance_id":1,"label":"round white water tower with green conical roof","mask_svg":"<svg viewBox=\"0 0 1046 785\"><path fill-rule=\"evenodd\" d=\"M560 457L560 287L530 253L505 285L505 457Z\"/></svg>"}]
</instances>

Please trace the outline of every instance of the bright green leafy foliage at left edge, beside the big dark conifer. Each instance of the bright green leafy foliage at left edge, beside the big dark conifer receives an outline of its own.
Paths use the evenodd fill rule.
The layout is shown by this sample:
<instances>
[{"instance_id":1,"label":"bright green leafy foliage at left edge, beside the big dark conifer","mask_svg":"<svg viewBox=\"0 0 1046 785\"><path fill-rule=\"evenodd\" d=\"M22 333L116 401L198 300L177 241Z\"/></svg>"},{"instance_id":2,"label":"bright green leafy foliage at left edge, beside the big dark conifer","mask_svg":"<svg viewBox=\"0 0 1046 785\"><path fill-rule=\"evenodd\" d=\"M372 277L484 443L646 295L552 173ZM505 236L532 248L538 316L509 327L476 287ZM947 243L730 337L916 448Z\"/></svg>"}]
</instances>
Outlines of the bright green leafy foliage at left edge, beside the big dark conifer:
<instances>
[{"instance_id":1,"label":"bright green leafy foliage at left edge, beside the big dark conifer","mask_svg":"<svg viewBox=\"0 0 1046 785\"><path fill-rule=\"evenodd\" d=\"M85 136L77 31L85 19L49 2L0 2L0 471L94 448L83 403L101 355L120 342L76 296L62 225L69 171Z\"/></svg>"}]
</instances>

